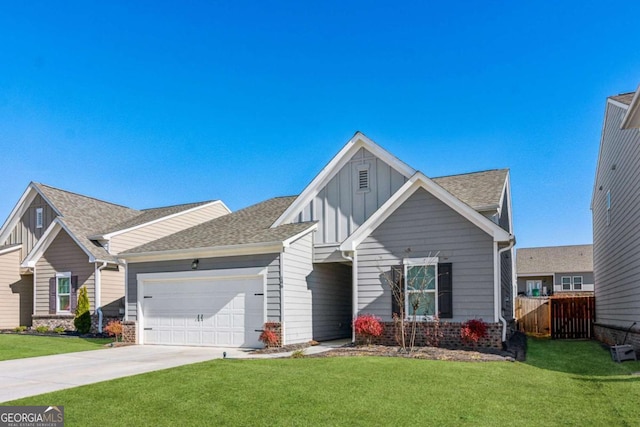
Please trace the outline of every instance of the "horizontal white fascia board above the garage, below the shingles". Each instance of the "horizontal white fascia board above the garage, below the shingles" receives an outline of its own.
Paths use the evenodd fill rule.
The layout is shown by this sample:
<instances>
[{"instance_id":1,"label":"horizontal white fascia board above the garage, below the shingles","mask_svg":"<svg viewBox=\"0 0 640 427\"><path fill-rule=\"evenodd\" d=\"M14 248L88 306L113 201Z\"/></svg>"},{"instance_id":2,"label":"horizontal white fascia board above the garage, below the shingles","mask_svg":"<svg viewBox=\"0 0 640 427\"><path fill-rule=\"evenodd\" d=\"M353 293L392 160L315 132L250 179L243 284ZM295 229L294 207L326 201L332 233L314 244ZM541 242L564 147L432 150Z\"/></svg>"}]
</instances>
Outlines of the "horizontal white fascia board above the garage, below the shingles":
<instances>
[{"instance_id":1,"label":"horizontal white fascia board above the garage, below the shingles","mask_svg":"<svg viewBox=\"0 0 640 427\"><path fill-rule=\"evenodd\" d=\"M282 242L251 243L245 245L217 246L212 248L175 249L169 251L120 254L127 264L148 261L170 261L192 258L219 258L223 256L260 255L280 253Z\"/></svg>"}]
</instances>

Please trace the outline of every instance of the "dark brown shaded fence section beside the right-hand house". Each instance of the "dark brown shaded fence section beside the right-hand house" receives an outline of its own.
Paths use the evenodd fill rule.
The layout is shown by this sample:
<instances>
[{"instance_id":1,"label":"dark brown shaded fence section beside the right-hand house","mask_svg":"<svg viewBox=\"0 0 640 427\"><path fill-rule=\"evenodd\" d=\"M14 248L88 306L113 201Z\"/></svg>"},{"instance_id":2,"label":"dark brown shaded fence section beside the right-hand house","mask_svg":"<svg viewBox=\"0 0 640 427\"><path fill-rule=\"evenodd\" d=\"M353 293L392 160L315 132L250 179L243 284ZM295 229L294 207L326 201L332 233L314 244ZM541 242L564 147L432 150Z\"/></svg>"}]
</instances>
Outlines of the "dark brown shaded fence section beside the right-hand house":
<instances>
[{"instance_id":1,"label":"dark brown shaded fence section beside the right-hand house","mask_svg":"<svg viewBox=\"0 0 640 427\"><path fill-rule=\"evenodd\" d=\"M595 297L551 298L551 338L585 339L593 337L596 318Z\"/></svg>"}]
</instances>

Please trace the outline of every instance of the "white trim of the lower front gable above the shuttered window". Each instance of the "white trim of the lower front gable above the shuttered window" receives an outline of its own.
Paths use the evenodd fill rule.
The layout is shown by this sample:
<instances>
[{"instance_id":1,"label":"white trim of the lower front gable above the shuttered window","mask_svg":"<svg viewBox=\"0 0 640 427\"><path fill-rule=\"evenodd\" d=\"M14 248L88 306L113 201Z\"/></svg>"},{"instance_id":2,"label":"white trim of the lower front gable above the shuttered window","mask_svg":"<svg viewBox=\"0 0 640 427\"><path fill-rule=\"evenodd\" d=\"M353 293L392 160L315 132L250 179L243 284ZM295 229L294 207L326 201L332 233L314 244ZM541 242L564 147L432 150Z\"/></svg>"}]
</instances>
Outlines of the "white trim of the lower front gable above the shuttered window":
<instances>
[{"instance_id":1,"label":"white trim of the lower front gable above the shuttered window","mask_svg":"<svg viewBox=\"0 0 640 427\"><path fill-rule=\"evenodd\" d=\"M438 184L427 178L421 172L416 172L396 193L391 196L384 205L380 207L368 220L364 222L351 236L341 245L341 251L354 251L373 231L380 226L393 212L396 211L409 197L419 188L422 188L438 200L449 206L454 211L468 219L475 226L493 237L494 242L508 242L512 236L500 226L475 211L469 205L440 187Z\"/></svg>"}]
</instances>

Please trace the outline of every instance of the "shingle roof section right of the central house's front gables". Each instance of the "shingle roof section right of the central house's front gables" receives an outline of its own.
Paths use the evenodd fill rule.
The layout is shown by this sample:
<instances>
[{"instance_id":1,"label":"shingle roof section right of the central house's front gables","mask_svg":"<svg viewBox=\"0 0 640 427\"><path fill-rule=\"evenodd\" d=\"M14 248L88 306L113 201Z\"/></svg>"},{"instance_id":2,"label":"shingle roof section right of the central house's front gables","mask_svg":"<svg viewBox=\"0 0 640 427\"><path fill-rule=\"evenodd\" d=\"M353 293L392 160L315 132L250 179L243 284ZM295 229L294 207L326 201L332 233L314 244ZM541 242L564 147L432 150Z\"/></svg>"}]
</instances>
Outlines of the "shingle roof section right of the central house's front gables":
<instances>
[{"instance_id":1,"label":"shingle roof section right of the central house's front gables","mask_svg":"<svg viewBox=\"0 0 640 427\"><path fill-rule=\"evenodd\" d=\"M473 209L482 211L500 205L508 173L509 169L493 169L432 180Z\"/></svg>"}]
</instances>

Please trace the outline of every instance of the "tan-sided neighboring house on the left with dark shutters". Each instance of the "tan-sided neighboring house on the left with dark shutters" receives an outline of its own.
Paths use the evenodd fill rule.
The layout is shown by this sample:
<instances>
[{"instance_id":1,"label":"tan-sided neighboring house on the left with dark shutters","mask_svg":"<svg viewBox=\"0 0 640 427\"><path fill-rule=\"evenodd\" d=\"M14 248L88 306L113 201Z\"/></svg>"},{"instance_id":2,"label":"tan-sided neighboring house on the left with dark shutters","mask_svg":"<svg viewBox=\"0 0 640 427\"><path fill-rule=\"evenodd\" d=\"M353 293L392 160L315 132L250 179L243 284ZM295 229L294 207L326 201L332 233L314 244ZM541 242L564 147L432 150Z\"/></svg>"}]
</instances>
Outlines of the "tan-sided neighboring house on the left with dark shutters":
<instances>
[{"instance_id":1,"label":"tan-sided neighboring house on the left with dark shutters","mask_svg":"<svg viewBox=\"0 0 640 427\"><path fill-rule=\"evenodd\" d=\"M32 182L0 229L0 329L73 329L82 286L92 314L122 317L119 252L227 213L220 201L140 211Z\"/></svg>"}]
</instances>

